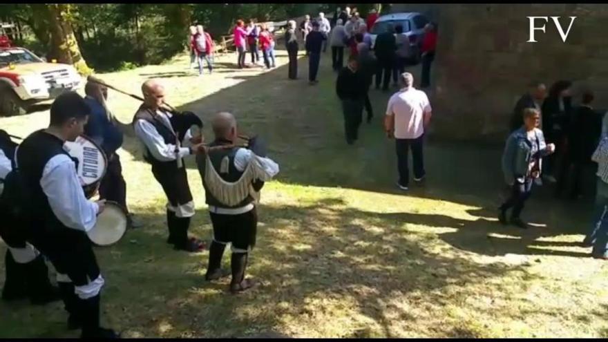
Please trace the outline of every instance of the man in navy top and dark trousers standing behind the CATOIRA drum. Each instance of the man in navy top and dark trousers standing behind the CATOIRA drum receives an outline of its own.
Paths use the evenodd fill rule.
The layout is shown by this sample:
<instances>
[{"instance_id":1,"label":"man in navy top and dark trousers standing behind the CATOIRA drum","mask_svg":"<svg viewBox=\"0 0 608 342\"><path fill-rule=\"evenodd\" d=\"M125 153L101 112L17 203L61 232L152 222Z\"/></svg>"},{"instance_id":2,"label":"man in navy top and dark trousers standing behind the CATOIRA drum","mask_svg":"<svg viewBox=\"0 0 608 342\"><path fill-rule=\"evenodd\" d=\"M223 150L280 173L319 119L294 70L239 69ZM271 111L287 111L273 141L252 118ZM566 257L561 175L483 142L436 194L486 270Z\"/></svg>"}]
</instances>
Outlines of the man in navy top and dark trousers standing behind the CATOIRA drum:
<instances>
[{"instance_id":1,"label":"man in navy top and dark trousers standing behind the CATOIRA drum","mask_svg":"<svg viewBox=\"0 0 608 342\"><path fill-rule=\"evenodd\" d=\"M106 106L108 88L96 82L87 82L84 86L84 101L91 108L91 116L84 126L84 134L96 142L106 153L108 169L99 183L99 198L116 202L127 214L129 227L141 227L141 223L129 213L126 206L126 182L122 177L120 156L116 153L122 146L122 132L117 127L115 118Z\"/></svg>"}]
</instances>

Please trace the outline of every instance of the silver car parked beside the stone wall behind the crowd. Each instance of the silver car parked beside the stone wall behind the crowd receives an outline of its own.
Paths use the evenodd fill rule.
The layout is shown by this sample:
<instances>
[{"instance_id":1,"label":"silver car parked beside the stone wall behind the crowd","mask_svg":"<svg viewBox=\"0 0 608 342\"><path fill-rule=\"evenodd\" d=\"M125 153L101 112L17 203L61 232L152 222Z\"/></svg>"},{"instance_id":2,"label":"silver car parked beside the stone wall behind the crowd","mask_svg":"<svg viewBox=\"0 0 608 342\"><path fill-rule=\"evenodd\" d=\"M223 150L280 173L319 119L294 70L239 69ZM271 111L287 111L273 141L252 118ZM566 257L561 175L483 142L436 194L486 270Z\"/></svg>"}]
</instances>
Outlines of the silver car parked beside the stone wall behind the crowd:
<instances>
[{"instance_id":1,"label":"silver car parked beside the stone wall behind the crowd","mask_svg":"<svg viewBox=\"0 0 608 342\"><path fill-rule=\"evenodd\" d=\"M429 20L421 15L419 12L405 12L405 13L392 13L390 15L383 15L379 17L370 35L372 36L372 48L376 44L376 37L383 32L389 25L395 28L397 25L403 26L403 35L408 36L410 39L410 53L412 63L418 63L420 61L420 44L422 37L424 36L424 26L429 23Z\"/></svg>"}]
</instances>

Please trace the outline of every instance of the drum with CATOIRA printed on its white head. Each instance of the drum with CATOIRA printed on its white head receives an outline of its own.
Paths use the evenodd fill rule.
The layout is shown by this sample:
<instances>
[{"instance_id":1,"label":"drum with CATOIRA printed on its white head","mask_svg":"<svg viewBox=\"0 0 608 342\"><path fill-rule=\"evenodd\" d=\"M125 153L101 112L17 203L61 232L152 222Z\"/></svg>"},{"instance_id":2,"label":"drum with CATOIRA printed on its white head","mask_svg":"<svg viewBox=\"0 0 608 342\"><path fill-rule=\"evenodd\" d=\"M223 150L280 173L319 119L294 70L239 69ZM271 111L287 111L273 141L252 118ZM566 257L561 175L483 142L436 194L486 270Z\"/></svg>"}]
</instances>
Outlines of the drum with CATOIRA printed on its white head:
<instances>
[{"instance_id":1,"label":"drum with CATOIRA printed on its white head","mask_svg":"<svg viewBox=\"0 0 608 342\"><path fill-rule=\"evenodd\" d=\"M106 153L90 137L80 135L74 142L65 142L64 149L77 160L76 173L86 198L92 198L108 169Z\"/></svg>"}]
</instances>

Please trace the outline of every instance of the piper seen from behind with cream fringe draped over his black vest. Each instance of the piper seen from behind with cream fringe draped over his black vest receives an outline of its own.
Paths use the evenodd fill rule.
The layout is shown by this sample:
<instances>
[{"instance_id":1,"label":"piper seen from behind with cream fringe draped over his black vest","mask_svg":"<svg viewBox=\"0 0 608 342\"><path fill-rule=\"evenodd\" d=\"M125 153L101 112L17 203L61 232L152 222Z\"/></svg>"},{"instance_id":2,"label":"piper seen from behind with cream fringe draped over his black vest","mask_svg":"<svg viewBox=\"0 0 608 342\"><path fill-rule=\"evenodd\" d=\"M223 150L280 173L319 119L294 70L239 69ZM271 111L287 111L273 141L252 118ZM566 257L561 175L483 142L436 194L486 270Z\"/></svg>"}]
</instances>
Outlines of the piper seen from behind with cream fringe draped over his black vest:
<instances>
[{"instance_id":1,"label":"piper seen from behind with cream fringe draped over his black vest","mask_svg":"<svg viewBox=\"0 0 608 342\"><path fill-rule=\"evenodd\" d=\"M209 216L213 224L213 241L209 248L207 281L227 276L222 272L222 255L227 243L231 243L232 280L230 291L242 292L254 285L245 279L247 256L256 244L258 215L257 193L263 182L278 173L278 164L265 157L263 146L256 149L253 140L249 149L234 146L238 137L236 120L230 113L218 113L213 117L215 140L202 148L196 163L205 187Z\"/></svg>"}]
</instances>

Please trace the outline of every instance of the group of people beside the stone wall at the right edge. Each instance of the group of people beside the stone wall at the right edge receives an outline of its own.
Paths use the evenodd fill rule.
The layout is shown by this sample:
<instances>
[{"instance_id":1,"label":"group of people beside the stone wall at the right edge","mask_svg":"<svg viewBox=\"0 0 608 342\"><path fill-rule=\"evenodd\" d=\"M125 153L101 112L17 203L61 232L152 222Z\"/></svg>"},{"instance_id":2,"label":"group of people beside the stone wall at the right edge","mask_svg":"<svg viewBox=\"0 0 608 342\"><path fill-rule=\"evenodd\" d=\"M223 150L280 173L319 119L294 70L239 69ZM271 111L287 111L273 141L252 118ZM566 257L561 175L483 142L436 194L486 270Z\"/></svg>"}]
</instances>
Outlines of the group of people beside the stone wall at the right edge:
<instances>
[{"instance_id":1,"label":"group of people beside the stone wall at the right edge","mask_svg":"<svg viewBox=\"0 0 608 342\"><path fill-rule=\"evenodd\" d=\"M515 104L511 135L502 155L502 169L511 196L500 206L498 218L522 229L520 218L534 186L555 184L555 196L580 198L582 180L597 175L596 208L591 231L582 245L593 247L594 258L608 260L608 115L594 110L592 91L583 91L579 105L573 104L573 84L542 82L529 84L529 91ZM545 182L543 182L543 180ZM507 211L512 209L508 219Z\"/></svg>"}]
</instances>

